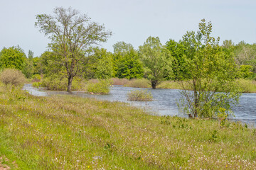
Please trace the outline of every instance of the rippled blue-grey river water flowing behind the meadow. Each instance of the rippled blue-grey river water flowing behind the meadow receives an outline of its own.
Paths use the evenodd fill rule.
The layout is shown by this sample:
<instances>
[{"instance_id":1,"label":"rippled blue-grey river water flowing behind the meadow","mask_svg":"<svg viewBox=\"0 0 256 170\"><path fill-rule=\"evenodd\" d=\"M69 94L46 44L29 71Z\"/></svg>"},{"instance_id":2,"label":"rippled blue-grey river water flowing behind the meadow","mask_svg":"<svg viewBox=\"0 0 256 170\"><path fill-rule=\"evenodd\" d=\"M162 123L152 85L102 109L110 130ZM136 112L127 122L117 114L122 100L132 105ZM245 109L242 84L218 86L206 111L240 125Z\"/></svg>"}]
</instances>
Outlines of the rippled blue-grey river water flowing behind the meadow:
<instances>
[{"instance_id":1,"label":"rippled blue-grey river water flowing behind the meadow","mask_svg":"<svg viewBox=\"0 0 256 170\"><path fill-rule=\"evenodd\" d=\"M178 115L185 116L178 113L176 102L180 99L181 94L175 89L147 89L151 92L154 101L127 101L127 93L129 91L137 90L138 88L113 86L110 88L110 94L107 95L92 95L85 94L80 91L45 91L43 89L36 89L31 84L25 84L24 90L28 91L34 96L52 96L58 94L75 95L88 98L97 98L107 101L121 101L130 103L132 106L146 108L146 111L156 113L157 115ZM242 123L256 124L256 94L242 94L240 97L240 104L233 108L235 118L232 120L239 120Z\"/></svg>"}]
</instances>

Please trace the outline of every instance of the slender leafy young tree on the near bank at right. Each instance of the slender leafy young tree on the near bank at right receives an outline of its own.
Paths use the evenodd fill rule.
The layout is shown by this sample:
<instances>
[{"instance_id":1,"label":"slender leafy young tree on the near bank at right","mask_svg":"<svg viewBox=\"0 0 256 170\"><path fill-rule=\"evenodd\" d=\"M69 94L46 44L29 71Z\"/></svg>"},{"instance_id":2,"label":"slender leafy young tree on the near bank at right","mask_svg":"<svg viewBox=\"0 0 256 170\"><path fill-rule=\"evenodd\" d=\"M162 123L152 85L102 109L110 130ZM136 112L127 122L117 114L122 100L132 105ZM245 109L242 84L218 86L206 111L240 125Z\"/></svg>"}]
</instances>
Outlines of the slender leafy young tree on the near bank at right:
<instances>
[{"instance_id":1,"label":"slender leafy young tree on the near bank at right","mask_svg":"<svg viewBox=\"0 0 256 170\"><path fill-rule=\"evenodd\" d=\"M234 83L238 74L234 58L223 52L219 38L211 37L211 31L212 24L203 19L197 34L192 31L183 36L191 79L182 81L181 94L190 118L212 118L220 113L220 108L229 114L231 104L237 103L240 96Z\"/></svg>"}]
</instances>

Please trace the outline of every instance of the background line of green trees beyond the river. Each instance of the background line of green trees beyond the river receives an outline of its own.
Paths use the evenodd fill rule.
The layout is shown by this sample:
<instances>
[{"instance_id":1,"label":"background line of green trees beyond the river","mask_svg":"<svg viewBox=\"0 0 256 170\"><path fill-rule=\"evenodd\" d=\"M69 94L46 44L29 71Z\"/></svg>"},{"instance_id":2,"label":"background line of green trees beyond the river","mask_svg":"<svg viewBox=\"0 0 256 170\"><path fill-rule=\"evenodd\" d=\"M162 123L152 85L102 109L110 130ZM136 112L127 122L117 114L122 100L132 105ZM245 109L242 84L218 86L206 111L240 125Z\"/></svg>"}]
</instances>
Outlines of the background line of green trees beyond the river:
<instances>
[{"instance_id":1,"label":"background line of green trees beyond the river","mask_svg":"<svg viewBox=\"0 0 256 170\"><path fill-rule=\"evenodd\" d=\"M87 50L87 56L78 69L78 77L83 79L109 79L111 77L126 79L150 79L153 88L162 80L191 79L191 70L187 60L193 55L189 44L189 32L178 42L169 40L162 45L159 38L149 37L144 45L135 49L132 44L117 42L114 52L104 48L93 47ZM234 44L224 40L220 50L233 57L238 69L237 78L255 79L256 44L244 41ZM45 77L67 77L65 69L56 64L58 55L53 50L46 50L39 57L34 57L31 50L28 55L21 47L4 47L0 52L0 68L15 68L30 79L35 75ZM61 75L61 76L60 76Z\"/></svg>"}]
</instances>

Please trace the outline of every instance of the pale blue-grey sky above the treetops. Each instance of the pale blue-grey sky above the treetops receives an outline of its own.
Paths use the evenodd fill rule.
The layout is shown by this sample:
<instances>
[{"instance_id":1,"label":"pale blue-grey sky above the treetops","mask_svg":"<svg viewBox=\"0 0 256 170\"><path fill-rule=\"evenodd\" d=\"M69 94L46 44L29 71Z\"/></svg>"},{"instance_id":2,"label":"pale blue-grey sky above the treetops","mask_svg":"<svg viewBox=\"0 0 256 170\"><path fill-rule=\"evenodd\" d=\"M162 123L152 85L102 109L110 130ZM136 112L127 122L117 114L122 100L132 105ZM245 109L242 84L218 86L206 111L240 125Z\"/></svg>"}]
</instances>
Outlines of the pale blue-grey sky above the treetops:
<instances>
[{"instance_id":1,"label":"pale blue-grey sky above the treetops","mask_svg":"<svg viewBox=\"0 0 256 170\"><path fill-rule=\"evenodd\" d=\"M256 42L255 0L0 0L0 50L19 45L39 57L47 50L47 37L36 28L37 14L53 14L55 7L72 7L104 24L113 35L101 47L113 51L119 41L136 49L149 36L162 44L181 40L188 30L198 30L205 18L213 24L213 37L238 43Z\"/></svg>"}]
</instances>

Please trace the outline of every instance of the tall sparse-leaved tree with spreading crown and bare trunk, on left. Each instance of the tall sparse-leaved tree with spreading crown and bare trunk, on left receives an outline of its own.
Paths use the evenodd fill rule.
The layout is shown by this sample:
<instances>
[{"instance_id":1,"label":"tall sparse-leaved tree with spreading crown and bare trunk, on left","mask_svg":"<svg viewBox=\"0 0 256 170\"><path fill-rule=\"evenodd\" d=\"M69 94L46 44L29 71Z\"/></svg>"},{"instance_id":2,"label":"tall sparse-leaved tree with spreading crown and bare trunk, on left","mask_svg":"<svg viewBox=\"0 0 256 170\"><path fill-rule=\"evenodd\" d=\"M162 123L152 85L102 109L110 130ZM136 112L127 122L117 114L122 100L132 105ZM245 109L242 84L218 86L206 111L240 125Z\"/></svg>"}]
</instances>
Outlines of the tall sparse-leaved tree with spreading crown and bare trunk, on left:
<instances>
[{"instance_id":1,"label":"tall sparse-leaved tree with spreading crown and bare trunk, on left","mask_svg":"<svg viewBox=\"0 0 256 170\"><path fill-rule=\"evenodd\" d=\"M58 7L53 13L37 15L35 25L52 41L49 47L55 53L55 65L65 69L71 91L73 78L86 64L87 51L107 41L112 33L75 9Z\"/></svg>"}]
</instances>

